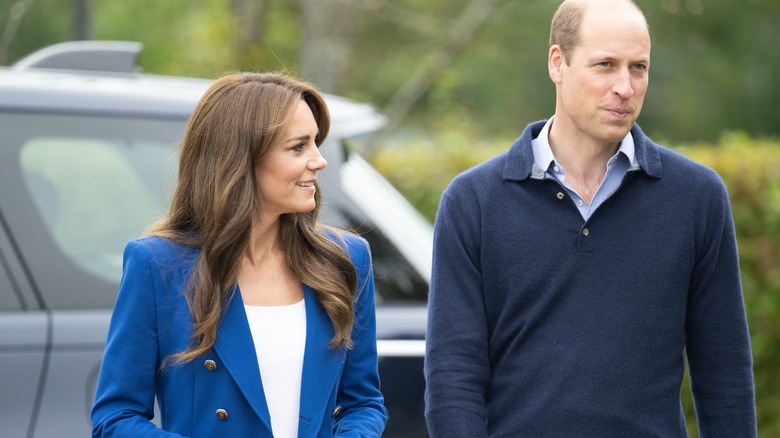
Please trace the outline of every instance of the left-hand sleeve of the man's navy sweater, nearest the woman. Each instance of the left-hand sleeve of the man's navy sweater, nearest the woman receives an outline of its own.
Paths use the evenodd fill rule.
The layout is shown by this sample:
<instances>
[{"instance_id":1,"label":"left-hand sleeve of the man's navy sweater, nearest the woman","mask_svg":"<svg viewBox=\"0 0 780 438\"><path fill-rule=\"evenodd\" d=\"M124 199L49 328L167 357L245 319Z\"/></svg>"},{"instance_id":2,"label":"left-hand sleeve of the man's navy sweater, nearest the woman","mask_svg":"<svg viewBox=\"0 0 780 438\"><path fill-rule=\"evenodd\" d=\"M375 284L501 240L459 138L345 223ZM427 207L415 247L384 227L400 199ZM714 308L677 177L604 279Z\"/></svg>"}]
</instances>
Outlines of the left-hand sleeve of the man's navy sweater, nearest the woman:
<instances>
[{"instance_id":1,"label":"left-hand sleeve of the man's navy sweater, nearest the woman","mask_svg":"<svg viewBox=\"0 0 780 438\"><path fill-rule=\"evenodd\" d=\"M425 352L425 416L433 438L487 436L479 203L464 199L470 192L462 183L456 179L442 196L434 226Z\"/></svg>"}]
</instances>

